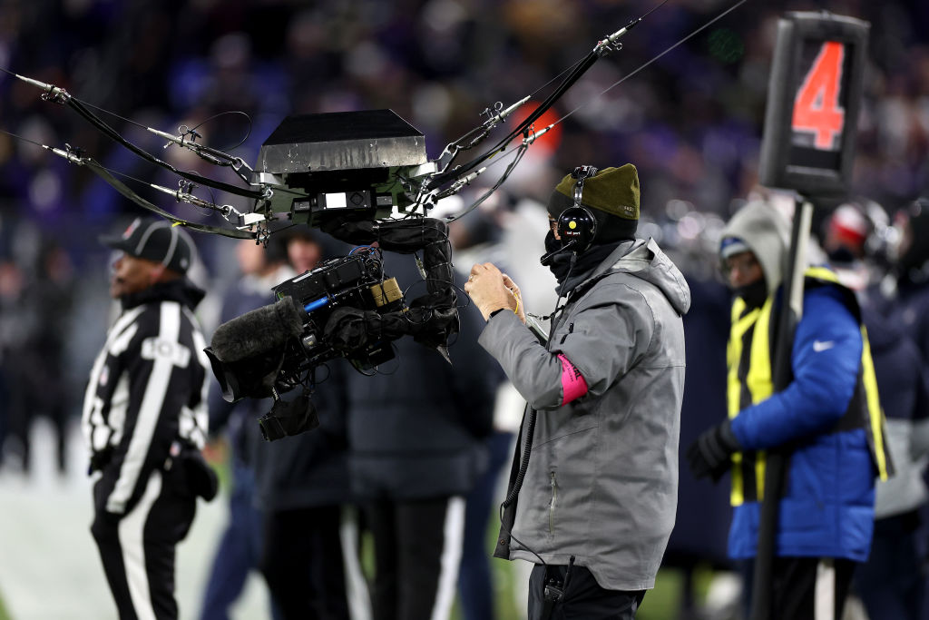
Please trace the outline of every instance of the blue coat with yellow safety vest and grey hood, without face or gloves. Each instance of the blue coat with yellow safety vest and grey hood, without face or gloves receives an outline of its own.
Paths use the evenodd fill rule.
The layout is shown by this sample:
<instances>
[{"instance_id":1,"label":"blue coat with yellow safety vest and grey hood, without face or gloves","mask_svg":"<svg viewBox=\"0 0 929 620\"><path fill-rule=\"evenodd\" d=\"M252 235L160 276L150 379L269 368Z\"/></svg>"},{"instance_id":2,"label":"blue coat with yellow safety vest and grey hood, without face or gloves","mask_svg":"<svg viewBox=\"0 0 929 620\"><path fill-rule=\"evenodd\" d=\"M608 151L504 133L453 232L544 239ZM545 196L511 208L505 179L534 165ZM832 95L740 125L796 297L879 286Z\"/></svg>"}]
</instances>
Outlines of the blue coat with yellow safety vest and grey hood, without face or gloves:
<instances>
[{"instance_id":1,"label":"blue coat with yellow safety vest and grey hood, without face or gloves","mask_svg":"<svg viewBox=\"0 0 929 620\"><path fill-rule=\"evenodd\" d=\"M854 294L831 271L807 270L792 378L775 391L773 334L788 228L770 207L751 203L723 231L724 239L738 238L752 250L768 291L761 308L737 298L732 310L729 417L742 450L733 455L729 555L754 557L764 495L762 451L784 448L790 466L779 499L777 555L864 561L873 530L874 478L890 468L870 350Z\"/></svg>"}]
</instances>

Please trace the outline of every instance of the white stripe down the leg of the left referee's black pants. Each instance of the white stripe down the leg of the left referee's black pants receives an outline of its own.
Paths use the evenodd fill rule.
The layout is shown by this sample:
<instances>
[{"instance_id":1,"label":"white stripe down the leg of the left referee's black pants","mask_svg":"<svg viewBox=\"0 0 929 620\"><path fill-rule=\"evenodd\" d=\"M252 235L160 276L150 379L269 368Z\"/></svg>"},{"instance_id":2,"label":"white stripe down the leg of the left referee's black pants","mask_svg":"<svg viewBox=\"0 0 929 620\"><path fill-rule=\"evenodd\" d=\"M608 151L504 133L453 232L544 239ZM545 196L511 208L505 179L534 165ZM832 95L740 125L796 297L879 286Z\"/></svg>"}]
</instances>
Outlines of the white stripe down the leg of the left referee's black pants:
<instances>
[{"instance_id":1,"label":"white stripe down the leg of the left referee's black pants","mask_svg":"<svg viewBox=\"0 0 929 620\"><path fill-rule=\"evenodd\" d=\"M153 471L138 504L119 522L119 546L123 551L125 580L129 584L129 598L138 620L156 620L151 605L149 574L145 570L145 521L151 505L162 493L162 472Z\"/></svg>"}]
</instances>

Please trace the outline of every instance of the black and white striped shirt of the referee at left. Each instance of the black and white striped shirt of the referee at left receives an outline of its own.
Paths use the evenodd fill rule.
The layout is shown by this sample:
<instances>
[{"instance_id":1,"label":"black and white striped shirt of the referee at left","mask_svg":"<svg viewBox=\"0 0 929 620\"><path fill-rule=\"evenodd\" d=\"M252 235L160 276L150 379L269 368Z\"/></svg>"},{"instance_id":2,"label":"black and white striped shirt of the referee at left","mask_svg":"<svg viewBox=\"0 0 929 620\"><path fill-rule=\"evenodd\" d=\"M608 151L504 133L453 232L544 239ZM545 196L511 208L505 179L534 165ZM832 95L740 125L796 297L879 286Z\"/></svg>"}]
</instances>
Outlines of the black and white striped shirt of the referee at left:
<instances>
[{"instance_id":1,"label":"black and white striped shirt of the referee at left","mask_svg":"<svg viewBox=\"0 0 929 620\"><path fill-rule=\"evenodd\" d=\"M82 415L92 463L103 474L98 510L131 509L173 442L203 447L209 360L191 312L201 297L178 280L123 300L91 370Z\"/></svg>"}]
</instances>

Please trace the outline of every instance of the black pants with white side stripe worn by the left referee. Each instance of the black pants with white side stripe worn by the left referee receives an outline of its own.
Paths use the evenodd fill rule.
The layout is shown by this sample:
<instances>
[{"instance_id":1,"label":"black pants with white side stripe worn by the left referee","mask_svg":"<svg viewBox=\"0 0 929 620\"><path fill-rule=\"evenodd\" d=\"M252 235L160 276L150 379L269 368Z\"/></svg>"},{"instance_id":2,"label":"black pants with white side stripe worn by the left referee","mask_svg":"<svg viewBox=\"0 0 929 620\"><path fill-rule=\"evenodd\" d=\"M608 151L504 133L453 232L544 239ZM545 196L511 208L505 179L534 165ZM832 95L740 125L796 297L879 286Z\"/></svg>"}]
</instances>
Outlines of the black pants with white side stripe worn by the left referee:
<instances>
[{"instance_id":1,"label":"black pants with white side stripe worn by the left referee","mask_svg":"<svg viewBox=\"0 0 929 620\"><path fill-rule=\"evenodd\" d=\"M90 531L120 620L177 618L175 547L190 531L197 498L176 480L175 472L155 471L129 512L94 517Z\"/></svg>"}]
</instances>

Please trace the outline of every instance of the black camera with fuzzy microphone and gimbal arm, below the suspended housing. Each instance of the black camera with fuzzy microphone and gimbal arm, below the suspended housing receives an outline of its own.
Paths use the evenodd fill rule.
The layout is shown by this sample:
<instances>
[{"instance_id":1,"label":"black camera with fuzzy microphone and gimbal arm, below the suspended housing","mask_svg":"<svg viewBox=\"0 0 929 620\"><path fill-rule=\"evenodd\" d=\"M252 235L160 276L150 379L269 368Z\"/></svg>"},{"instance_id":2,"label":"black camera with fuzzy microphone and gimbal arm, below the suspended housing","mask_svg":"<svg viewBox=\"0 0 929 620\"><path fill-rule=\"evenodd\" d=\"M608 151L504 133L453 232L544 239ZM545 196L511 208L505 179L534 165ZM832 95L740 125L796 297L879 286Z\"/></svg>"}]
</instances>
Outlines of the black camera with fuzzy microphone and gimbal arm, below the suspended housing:
<instances>
[{"instance_id":1,"label":"black camera with fuzzy microphone and gimbal arm, below the suspended housing","mask_svg":"<svg viewBox=\"0 0 929 620\"><path fill-rule=\"evenodd\" d=\"M341 226L357 237L376 235L387 250L422 251L426 293L408 303L397 280L385 273L380 247L362 246L274 287L277 303L220 325L206 354L223 398L273 398L271 411L259 419L268 440L316 426L309 396L312 373L321 363L344 357L369 371L392 359L390 343L407 335L448 360L446 342L458 331L443 222L417 218ZM298 386L300 398L281 399Z\"/></svg>"}]
</instances>

